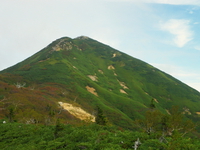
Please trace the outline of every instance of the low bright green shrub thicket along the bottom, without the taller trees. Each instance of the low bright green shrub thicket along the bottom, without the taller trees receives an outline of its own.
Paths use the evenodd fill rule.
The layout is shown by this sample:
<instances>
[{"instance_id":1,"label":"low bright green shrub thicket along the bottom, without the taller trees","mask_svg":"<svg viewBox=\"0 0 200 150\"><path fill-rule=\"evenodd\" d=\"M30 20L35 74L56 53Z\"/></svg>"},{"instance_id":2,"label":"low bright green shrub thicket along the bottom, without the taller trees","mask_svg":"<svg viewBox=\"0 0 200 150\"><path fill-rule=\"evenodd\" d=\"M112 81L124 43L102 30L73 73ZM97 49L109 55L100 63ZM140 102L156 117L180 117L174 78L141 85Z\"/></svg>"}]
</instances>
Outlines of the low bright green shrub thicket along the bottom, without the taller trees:
<instances>
[{"instance_id":1,"label":"low bright green shrub thicket along the bottom, without the taller trees","mask_svg":"<svg viewBox=\"0 0 200 150\"><path fill-rule=\"evenodd\" d=\"M182 137L179 133L166 137L161 142L158 134L129 131L116 126L87 124L82 126L63 125L44 126L33 124L0 124L0 149L2 150L53 150L53 149L89 149L89 150L198 150L200 141L191 137Z\"/></svg>"}]
</instances>

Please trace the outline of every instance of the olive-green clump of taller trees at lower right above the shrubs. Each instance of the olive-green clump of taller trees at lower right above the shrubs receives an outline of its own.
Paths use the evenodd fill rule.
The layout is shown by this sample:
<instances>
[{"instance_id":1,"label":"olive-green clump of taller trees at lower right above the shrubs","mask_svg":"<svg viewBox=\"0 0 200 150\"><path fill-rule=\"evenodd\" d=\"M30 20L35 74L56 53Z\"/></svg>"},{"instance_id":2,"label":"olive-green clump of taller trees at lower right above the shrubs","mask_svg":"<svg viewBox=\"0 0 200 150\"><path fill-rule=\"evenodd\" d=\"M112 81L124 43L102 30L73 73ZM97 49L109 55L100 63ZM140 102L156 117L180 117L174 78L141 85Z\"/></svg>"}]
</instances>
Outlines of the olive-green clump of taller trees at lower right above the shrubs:
<instances>
[{"instance_id":1,"label":"olive-green clump of taller trees at lower right above the shrubs","mask_svg":"<svg viewBox=\"0 0 200 150\"><path fill-rule=\"evenodd\" d=\"M166 140L167 136L178 139L177 136L183 137L195 130L195 124L186 119L178 107L173 106L169 112L170 115L162 114L156 109L150 109L146 112L145 118L136 120L135 124L149 135L157 134L161 140Z\"/></svg>"}]
</instances>

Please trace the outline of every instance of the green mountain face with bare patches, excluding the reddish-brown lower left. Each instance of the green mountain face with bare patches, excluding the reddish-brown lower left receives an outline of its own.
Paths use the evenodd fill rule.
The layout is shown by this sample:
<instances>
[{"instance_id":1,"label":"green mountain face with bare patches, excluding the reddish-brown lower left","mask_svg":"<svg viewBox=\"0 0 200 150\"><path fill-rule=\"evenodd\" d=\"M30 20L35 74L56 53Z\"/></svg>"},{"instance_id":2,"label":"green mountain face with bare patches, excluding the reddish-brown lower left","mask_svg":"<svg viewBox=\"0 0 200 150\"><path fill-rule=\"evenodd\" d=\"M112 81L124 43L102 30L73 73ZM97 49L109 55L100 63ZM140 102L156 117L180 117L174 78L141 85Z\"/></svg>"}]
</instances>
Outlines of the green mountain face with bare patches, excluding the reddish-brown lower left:
<instances>
[{"instance_id":1,"label":"green mountain face with bare patches, excluding the reddish-brown lower left","mask_svg":"<svg viewBox=\"0 0 200 150\"><path fill-rule=\"evenodd\" d=\"M109 120L130 127L150 101L163 113L172 105L198 119L200 93L155 67L88 37L64 37L1 74L21 76L32 84L57 83L75 103L92 111L101 106ZM11 83L12 84L12 83ZM72 101L74 99L71 99Z\"/></svg>"}]
</instances>

